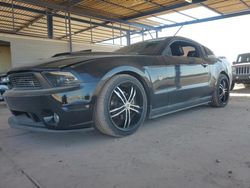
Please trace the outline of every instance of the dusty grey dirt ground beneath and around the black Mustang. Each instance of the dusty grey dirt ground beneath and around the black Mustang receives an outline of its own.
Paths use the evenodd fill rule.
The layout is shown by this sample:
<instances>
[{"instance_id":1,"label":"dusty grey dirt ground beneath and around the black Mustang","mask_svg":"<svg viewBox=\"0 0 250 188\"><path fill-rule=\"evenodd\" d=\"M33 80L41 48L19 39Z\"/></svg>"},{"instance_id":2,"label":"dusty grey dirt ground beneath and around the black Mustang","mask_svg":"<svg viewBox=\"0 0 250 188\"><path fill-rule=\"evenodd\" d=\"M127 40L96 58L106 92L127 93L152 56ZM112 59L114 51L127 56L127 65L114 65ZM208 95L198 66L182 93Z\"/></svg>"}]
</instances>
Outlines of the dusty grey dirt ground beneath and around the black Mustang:
<instances>
[{"instance_id":1,"label":"dusty grey dirt ground beneath and around the black Mustang","mask_svg":"<svg viewBox=\"0 0 250 188\"><path fill-rule=\"evenodd\" d=\"M0 103L0 188L250 188L250 89L226 108L147 121L134 135L12 129Z\"/></svg>"}]
</instances>

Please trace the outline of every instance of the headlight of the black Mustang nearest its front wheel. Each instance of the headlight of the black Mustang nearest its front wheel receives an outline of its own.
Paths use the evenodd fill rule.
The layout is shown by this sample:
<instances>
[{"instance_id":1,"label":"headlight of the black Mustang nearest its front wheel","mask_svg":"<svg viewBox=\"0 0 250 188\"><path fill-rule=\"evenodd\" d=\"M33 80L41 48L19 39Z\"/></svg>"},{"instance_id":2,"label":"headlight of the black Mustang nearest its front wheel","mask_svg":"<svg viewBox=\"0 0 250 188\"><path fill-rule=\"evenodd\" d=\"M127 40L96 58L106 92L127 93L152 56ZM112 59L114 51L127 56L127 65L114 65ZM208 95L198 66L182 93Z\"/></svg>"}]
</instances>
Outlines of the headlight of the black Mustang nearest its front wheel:
<instances>
[{"instance_id":1,"label":"headlight of the black Mustang nearest its front wheel","mask_svg":"<svg viewBox=\"0 0 250 188\"><path fill-rule=\"evenodd\" d=\"M79 84L79 80L70 72L44 72L43 74L54 87Z\"/></svg>"}]
</instances>

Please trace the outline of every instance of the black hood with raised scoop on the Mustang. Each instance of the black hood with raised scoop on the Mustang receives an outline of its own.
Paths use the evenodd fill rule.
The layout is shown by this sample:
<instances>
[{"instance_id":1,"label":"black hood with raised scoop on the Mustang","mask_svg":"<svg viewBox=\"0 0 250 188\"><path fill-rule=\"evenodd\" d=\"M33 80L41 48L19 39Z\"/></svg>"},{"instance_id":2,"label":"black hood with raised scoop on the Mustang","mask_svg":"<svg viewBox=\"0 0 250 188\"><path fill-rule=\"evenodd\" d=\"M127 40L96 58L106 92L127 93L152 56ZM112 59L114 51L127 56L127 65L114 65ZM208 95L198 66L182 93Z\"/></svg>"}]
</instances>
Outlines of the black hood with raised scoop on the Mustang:
<instances>
[{"instance_id":1,"label":"black hood with raised scoop on the Mustang","mask_svg":"<svg viewBox=\"0 0 250 188\"><path fill-rule=\"evenodd\" d=\"M109 53L109 52L105 53L91 52L91 53L82 53L81 55L58 56L34 62L35 65L32 66L14 68L10 70L8 74L14 72L23 72L23 71L60 70L62 68L69 67L77 63L86 62L88 60L105 58L105 57L117 57L117 56L126 56L126 55Z\"/></svg>"}]
</instances>

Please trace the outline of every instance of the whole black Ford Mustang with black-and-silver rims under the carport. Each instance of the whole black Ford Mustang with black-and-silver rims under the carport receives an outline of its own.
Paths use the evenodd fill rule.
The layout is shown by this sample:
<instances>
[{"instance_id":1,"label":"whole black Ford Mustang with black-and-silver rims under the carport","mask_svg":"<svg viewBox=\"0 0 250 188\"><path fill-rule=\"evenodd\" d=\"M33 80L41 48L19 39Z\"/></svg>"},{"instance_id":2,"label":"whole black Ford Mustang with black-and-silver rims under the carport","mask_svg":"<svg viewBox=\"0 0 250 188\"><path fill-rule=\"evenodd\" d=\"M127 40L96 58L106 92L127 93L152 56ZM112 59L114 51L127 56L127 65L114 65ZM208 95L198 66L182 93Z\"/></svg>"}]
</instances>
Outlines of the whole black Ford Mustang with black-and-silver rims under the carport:
<instances>
[{"instance_id":1,"label":"whole black Ford Mustang with black-and-silver rims under the carport","mask_svg":"<svg viewBox=\"0 0 250 188\"><path fill-rule=\"evenodd\" d=\"M231 66L186 38L154 39L114 53L64 54L8 73L4 97L14 127L69 130L94 125L112 136L146 117L190 107L224 107Z\"/></svg>"}]
</instances>

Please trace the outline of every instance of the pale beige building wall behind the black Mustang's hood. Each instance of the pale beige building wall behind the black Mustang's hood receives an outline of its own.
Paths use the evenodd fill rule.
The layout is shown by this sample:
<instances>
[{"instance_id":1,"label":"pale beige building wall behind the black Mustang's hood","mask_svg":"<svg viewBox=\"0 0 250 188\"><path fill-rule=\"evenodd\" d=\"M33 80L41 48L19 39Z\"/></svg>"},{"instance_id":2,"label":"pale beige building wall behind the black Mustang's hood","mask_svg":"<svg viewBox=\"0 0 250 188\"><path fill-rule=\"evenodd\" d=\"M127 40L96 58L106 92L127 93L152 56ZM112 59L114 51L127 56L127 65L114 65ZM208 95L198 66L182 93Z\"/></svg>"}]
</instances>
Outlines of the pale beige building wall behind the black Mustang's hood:
<instances>
[{"instance_id":1,"label":"pale beige building wall behind the black Mustang's hood","mask_svg":"<svg viewBox=\"0 0 250 188\"><path fill-rule=\"evenodd\" d=\"M39 59L69 51L69 43L66 41L1 33L0 40L10 42L12 67L36 64ZM111 52L118 48L119 46L73 43L73 51L92 49L93 51Z\"/></svg>"}]
</instances>

